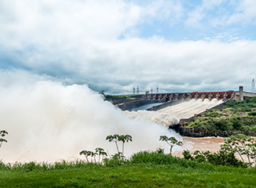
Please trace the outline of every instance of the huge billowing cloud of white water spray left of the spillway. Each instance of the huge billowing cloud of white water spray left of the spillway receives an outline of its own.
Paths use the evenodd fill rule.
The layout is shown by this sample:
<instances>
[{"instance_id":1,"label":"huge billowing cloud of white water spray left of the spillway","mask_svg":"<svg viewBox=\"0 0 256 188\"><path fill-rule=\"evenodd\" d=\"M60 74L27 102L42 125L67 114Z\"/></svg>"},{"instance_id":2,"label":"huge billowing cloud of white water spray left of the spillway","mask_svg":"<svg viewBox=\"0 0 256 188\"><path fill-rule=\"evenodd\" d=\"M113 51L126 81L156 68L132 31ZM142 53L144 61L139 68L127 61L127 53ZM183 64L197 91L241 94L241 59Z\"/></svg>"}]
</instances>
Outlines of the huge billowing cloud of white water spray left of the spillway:
<instances>
[{"instance_id":1,"label":"huge billowing cloud of white water spray left of the spillway","mask_svg":"<svg viewBox=\"0 0 256 188\"><path fill-rule=\"evenodd\" d=\"M0 149L4 162L71 160L96 147L114 154L115 144L105 140L110 134L133 136L125 145L126 156L159 146L168 151L161 135L181 140L162 125L130 120L86 85L0 79L0 103L0 129L9 132Z\"/></svg>"}]
</instances>

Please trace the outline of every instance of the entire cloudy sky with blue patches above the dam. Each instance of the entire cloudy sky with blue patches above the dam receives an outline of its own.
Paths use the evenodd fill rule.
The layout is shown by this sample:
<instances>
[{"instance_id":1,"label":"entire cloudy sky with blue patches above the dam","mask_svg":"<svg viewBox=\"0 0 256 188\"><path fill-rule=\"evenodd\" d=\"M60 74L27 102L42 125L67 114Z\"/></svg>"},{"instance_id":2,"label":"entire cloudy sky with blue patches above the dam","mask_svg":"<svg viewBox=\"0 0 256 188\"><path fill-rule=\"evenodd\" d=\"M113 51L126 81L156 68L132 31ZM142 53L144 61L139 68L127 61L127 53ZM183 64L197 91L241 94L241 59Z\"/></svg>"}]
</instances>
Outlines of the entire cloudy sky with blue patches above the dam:
<instances>
[{"instance_id":1,"label":"entire cloudy sky with blue patches above the dam","mask_svg":"<svg viewBox=\"0 0 256 188\"><path fill-rule=\"evenodd\" d=\"M0 74L113 94L250 91L255 9L255 0L2 0Z\"/></svg>"}]
</instances>

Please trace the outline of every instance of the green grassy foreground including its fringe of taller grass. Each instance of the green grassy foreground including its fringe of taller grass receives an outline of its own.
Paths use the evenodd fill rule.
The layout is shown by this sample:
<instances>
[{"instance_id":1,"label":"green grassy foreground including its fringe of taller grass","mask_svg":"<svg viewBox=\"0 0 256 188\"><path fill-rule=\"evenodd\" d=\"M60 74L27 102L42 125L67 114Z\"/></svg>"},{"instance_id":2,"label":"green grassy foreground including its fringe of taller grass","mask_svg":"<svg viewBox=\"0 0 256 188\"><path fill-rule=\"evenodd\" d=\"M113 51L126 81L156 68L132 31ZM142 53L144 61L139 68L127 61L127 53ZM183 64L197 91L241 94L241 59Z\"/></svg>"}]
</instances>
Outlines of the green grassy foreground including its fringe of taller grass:
<instances>
[{"instance_id":1,"label":"green grassy foreground including its fringe of taller grass","mask_svg":"<svg viewBox=\"0 0 256 188\"><path fill-rule=\"evenodd\" d=\"M162 156L162 157L161 157ZM120 163L0 165L0 187L255 187L256 168L234 168L155 155Z\"/></svg>"}]
</instances>

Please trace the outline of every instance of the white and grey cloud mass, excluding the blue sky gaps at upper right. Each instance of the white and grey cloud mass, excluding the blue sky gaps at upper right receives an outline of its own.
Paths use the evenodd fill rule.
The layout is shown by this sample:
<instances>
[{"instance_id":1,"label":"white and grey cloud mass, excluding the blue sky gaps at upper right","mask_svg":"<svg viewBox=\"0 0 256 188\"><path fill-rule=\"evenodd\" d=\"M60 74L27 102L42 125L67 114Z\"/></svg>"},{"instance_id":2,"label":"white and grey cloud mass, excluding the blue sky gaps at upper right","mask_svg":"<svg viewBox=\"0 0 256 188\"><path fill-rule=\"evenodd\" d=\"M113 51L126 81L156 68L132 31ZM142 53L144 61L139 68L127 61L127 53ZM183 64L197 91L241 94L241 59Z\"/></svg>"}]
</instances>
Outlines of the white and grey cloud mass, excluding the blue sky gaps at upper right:
<instances>
[{"instance_id":1,"label":"white and grey cloud mass, excluding the blue sky gaps at upper right","mask_svg":"<svg viewBox=\"0 0 256 188\"><path fill-rule=\"evenodd\" d=\"M204 2L194 23L214 5ZM169 19L170 24L181 19L178 3L13 0L0 7L5 10L0 11L0 52L6 67L110 92L136 86L142 92L157 85L160 92L236 89L255 78L254 41L234 42L236 36L229 34L216 40L203 34L207 41L196 42L136 37L137 24L147 19ZM227 36L229 43L221 42Z\"/></svg>"}]
</instances>

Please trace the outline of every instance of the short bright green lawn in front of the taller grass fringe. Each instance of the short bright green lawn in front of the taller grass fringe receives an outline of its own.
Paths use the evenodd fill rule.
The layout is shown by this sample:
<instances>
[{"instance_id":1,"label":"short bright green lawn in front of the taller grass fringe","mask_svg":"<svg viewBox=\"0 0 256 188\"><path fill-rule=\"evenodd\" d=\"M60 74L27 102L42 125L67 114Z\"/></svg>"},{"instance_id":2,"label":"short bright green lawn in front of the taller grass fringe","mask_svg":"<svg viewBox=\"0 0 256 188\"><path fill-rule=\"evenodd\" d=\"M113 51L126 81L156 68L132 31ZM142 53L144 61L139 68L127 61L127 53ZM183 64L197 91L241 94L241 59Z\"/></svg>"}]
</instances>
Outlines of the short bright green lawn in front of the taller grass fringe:
<instances>
[{"instance_id":1,"label":"short bright green lawn in front of the taller grass fringe","mask_svg":"<svg viewBox=\"0 0 256 188\"><path fill-rule=\"evenodd\" d=\"M255 187L255 175L195 171L172 166L0 173L0 187Z\"/></svg>"}]
</instances>

